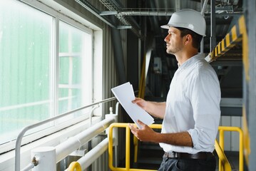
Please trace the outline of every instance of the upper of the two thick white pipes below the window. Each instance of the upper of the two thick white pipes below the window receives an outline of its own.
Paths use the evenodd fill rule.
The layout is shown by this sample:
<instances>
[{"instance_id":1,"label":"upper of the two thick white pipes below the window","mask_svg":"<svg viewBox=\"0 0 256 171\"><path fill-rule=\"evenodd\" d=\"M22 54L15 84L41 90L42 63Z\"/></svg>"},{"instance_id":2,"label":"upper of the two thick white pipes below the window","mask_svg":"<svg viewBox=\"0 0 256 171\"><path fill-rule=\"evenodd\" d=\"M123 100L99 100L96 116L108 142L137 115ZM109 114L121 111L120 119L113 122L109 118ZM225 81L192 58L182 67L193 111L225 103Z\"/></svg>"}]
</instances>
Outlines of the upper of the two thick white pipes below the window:
<instances>
[{"instance_id":1,"label":"upper of the two thick white pipes below the window","mask_svg":"<svg viewBox=\"0 0 256 171\"><path fill-rule=\"evenodd\" d=\"M73 138L68 138L65 142L56 146L56 162L63 160L66 156L68 156L74 150L77 150L81 147L81 145L85 144L92 138L96 137L96 135L106 130L111 123L114 122L113 117L106 118L105 120L101 120L100 123L96 123L91 128L84 130L82 133L74 136Z\"/></svg>"}]
</instances>

